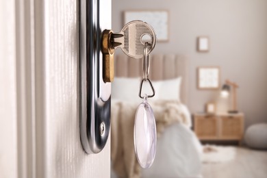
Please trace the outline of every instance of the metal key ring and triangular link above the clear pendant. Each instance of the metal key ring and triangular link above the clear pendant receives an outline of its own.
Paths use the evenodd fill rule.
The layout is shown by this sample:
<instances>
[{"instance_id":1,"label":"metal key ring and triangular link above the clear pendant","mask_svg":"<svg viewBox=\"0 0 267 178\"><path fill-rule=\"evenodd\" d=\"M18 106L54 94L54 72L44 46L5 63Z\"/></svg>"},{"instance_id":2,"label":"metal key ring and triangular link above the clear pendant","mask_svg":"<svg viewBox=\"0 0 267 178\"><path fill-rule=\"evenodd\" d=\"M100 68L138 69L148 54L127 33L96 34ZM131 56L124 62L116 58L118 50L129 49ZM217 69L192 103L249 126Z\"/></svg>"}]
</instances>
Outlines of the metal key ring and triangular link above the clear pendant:
<instances>
[{"instance_id":1,"label":"metal key ring and triangular link above the clear pendant","mask_svg":"<svg viewBox=\"0 0 267 178\"><path fill-rule=\"evenodd\" d=\"M149 49L149 43L146 42L144 44L144 60L143 60L143 79L140 83L140 88L139 88L139 97L141 99L144 98L151 98L155 96L155 90L154 87L149 79L149 68L150 68L150 55L148 54L148 49ZM144 96L142 96L142 86L144 81L149 81L149 85L151 86L152 92L153 94L148 95L148 94L144 94Z\"/></svg>"}]
</instances>

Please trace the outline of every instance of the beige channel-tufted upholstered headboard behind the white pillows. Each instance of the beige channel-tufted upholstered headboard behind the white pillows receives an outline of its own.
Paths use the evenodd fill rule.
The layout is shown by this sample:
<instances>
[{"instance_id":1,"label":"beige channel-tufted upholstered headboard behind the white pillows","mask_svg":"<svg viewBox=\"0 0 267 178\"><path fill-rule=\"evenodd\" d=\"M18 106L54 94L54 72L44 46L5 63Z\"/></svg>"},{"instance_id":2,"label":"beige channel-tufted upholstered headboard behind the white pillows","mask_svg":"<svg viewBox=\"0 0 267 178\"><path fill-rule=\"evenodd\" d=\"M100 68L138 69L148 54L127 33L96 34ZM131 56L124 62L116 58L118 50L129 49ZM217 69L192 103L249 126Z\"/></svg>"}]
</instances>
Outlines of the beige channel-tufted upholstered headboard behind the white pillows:
<instances>
[{"instance_id":1,"label":"beige channel-tufted upholstered headboard behind the white pillows","mask_svg":"<svg viewBox=\"0 0 267 178\"><path fill-rule=\"evenodd\" d=\"M142 62L127 55L116 55L114 59L115 77L141 77ZM182 77L181 102L188 104L188 59L185 55L151 55L149 78L151 80L173 79Z\"/></svg>"}]
</instances>

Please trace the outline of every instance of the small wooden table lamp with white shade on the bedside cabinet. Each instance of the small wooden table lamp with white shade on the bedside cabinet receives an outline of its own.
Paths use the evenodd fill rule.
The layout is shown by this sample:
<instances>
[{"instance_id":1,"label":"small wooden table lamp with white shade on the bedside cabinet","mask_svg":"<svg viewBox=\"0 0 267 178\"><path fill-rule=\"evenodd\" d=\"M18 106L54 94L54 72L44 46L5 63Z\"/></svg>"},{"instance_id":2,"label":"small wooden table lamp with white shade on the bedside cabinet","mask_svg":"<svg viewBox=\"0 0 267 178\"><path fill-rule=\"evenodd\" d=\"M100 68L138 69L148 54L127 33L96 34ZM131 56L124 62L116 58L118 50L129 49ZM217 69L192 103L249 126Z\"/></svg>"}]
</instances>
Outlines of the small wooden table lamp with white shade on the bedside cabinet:
<instances>
[{"instance_id":1,"label":"small wooden table lamp with white shade on the bedside cabinet","mask_svg":"<svg viewBox=\"0 0 267 178\"><path fill-rule=\"evenodd\" d=\"M229 110L228 112L231 114L238 113L237 109L237 94L236 94L236 88L238 88L238 84L229 81L229 79L225 80L225 84L222 86L222 90L220 91L220 96L227 98L229 97L229 92L232 91L232 109Z\"/></svg>"}]
</instances>

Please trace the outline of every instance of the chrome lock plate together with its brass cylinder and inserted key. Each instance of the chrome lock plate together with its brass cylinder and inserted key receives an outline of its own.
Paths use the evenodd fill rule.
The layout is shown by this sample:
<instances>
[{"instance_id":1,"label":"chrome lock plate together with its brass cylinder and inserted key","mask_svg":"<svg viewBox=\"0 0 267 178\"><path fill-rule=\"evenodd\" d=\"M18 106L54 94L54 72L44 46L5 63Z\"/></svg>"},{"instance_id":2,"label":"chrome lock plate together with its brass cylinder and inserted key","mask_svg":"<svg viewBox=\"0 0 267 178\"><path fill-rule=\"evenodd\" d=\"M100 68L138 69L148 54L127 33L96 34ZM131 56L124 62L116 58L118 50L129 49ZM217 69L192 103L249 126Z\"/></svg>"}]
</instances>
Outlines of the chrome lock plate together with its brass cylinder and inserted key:
<instances>
[{"instance_id":1,"label":"chrome lock plate together with its brass cylinder and inserted key","mask_svg":"<svg viewBox=\"0 0 267 178\"><path fill-rule=\"evenodd\" d=\"M79 12L80 138L86 153L99 153L110 133L114 52L120 47L129 57L142 58L144 43L149 42L150 53L156 38L153 28L142 21L127 23L119 33L108 30L110 0L80 0Z\"/></svg>"}]
</instances>

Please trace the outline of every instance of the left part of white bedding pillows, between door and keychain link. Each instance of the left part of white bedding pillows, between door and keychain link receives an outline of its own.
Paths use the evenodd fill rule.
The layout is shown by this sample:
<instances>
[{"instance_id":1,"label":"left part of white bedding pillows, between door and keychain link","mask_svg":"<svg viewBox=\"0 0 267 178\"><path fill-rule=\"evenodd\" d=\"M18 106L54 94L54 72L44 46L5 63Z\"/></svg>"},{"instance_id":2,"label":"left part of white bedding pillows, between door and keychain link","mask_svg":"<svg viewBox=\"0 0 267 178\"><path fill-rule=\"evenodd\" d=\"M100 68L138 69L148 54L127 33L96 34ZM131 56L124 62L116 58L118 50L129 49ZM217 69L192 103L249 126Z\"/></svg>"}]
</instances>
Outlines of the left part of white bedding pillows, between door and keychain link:
<instances>
[{"instance_id":1,"label":"left part of white bedding pillows, between door and keychain link","mask_svg":"<svg viewBox=\"0 0 267 178\"><path fill-rule=\"evenodd\" d=\"M112 82L112 99L140 102L139 97L140 78L115 77Z\"/></svg>"}]
</instances>

